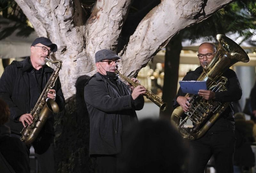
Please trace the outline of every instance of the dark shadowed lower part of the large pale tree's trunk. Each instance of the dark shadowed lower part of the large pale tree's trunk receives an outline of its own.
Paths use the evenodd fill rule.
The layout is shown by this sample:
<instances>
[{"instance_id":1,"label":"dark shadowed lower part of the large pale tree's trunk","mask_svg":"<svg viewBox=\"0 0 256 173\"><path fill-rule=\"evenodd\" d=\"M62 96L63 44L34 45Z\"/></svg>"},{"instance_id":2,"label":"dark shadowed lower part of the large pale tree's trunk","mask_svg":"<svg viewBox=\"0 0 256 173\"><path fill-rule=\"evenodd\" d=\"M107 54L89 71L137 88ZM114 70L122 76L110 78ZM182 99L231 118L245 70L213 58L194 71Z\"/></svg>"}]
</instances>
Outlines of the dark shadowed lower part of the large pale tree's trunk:
<instances>
[{"instance_id":1,"label":"dark shadowed lower part of the large pale tree's trunk","mask_svg":"<svg viewBox=\"0 0 256 173\"><path fill-rule=\"evenodd\" d=\"M55 117L57 172L95 172L95 161L89 157L90 124L84 102L84 84L88 79L89 76L77 79L77 94L66 100L66 109Z\"/></svg>"}]
</instances>

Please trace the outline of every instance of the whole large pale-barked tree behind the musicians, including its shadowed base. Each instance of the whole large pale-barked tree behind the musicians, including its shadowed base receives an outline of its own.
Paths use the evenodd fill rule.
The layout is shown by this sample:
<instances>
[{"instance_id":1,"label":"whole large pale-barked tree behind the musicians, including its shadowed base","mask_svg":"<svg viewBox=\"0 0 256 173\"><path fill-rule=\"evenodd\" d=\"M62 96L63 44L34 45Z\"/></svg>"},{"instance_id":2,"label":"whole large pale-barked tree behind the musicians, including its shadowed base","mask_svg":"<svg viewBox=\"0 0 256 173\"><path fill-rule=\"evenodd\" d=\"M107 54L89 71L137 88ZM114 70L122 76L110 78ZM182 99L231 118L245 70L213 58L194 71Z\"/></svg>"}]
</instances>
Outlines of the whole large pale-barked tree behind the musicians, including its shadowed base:
<instances>
[{"instance_id":1,"label":"whole large pale-barked tree behind the musicians, including its shadowed base","mask_svg":"<svg viewBox=\"0 0 256 173\"><path fill-rule=\"evenodd\" d=\"M37 35L58 45L52 58L63 61L60 81L66 107L56 117L58 172L93 172L83 84L96 72L95 52L117 49L131 0L98 0L90 16L84 16L79 0L15 1ZM120 71L135 76L181 29L208 18L231 1L162 0L140 21L129 42L118 48L122 49L117 52L122 56Z\"/></svg>"}]
</instances>

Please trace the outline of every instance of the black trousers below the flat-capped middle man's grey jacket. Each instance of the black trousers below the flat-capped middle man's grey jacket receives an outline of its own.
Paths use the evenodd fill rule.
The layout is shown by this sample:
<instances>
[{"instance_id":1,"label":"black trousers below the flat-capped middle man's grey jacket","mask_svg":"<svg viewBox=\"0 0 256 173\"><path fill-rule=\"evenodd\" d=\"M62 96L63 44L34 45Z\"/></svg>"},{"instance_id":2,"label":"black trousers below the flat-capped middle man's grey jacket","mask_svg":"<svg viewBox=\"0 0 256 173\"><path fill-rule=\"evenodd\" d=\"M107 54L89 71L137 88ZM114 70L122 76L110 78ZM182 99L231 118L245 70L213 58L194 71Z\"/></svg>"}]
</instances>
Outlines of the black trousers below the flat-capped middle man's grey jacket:
<instances>
[{"instance_id":1,"label":"black trousers below the flat-capped middle man's grey jacket","mask_svg":"<svg viewBox=\"0 0 256 173\"><path fill-rule=\"evenodd\" d=\"M98 173L116 173L116 155L95 155Z\"/></svg>"}]
</instances>

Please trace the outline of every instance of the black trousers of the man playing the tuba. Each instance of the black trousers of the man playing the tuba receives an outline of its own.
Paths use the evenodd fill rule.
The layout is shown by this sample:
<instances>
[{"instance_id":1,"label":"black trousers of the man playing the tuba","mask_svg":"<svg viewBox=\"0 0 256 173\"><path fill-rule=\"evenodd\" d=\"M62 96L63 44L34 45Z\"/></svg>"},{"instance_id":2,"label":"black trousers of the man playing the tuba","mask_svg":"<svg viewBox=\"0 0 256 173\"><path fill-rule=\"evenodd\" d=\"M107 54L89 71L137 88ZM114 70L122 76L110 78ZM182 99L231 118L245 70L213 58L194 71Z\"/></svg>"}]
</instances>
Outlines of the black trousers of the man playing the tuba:
<instances>
[{"instance_id":1,"label":"black trousers of the man playing the tuba","mask_svg":"<svg viewBox=\"0 0 256 173\"><path fill-rule=\"evenodd\" d=\"M204 173L213 155L217 173L233 173L236 137L234 131L207 132L190 142L189 173Z\"/></svg>"}]
</instances>

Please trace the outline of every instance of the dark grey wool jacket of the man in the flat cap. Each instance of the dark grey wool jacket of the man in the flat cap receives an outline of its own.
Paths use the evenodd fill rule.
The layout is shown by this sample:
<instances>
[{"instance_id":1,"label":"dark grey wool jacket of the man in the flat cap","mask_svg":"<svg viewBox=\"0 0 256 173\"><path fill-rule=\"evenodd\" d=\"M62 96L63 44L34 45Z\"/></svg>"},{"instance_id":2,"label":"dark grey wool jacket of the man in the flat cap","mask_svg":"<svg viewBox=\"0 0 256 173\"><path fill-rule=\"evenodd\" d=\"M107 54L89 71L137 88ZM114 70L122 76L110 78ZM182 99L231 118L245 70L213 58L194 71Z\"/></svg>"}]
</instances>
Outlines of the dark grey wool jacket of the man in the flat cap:
<instances>
[{"instance_id":1,"label":"dark grey wool jacket of the man in the flat cap","mask_svg":"<svg viewBox=\"0 0 256 173\"><path fill-rule=\"evenodd\" d=\"M84 100L90 118L90 155L120 153L122 135L126 132L124 125L138 120L135 110L143 108L143 96L133 100L124 82L118 79L113 84L96 73L85 84Z\"/></svg>"}]
</instances>

